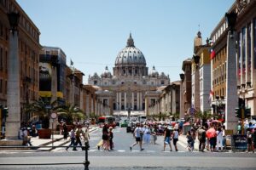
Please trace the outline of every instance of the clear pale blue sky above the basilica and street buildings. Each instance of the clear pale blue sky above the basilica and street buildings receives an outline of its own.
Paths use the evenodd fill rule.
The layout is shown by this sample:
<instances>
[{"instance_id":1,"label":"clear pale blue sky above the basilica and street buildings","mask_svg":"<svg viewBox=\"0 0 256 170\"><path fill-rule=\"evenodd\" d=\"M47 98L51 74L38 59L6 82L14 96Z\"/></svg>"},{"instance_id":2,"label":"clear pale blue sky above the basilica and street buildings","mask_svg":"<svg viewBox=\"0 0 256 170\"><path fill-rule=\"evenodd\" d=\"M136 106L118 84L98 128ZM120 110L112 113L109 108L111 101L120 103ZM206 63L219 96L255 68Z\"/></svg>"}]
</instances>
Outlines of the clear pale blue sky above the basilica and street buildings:
<instances>
[{"instance_id":1,"label":"clear pale blue sky above the basilica and street buildings","mask_svg":"<svg viewBox=\"0 0 256 170\"><path fill-rule=\"evenodd\" d=\"M61 48L83 71L84 83L115 58L131 32L147 61L171 81L179 80L194 38L203 42L235 0L17 0L38 26L40 43Z\"/></svg>"}]
</instances>

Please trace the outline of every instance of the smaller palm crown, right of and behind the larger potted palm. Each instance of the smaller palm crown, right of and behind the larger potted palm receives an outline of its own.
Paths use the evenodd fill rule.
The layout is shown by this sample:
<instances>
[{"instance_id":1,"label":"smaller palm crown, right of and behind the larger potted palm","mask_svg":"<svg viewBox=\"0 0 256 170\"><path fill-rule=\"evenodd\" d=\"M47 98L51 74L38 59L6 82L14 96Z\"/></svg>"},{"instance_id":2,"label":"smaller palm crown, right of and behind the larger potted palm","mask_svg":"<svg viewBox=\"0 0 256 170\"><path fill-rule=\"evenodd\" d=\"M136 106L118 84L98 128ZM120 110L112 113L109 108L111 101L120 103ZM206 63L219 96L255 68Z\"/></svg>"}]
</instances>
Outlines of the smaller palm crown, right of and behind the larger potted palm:
<instances>
[{"instance_id":1,"label":"smaller palm crown, right of and behind the larger potted palm","mask_svg":"<svg viewBox=\"0 0 256 170\"><path fill-rule=\"evenodd\" d=\"M59 116L66 120L67 124L73 124L73 121L84 119L84 113L76 105L61 105L57 109Z\"/></svg>"}]
</instances>

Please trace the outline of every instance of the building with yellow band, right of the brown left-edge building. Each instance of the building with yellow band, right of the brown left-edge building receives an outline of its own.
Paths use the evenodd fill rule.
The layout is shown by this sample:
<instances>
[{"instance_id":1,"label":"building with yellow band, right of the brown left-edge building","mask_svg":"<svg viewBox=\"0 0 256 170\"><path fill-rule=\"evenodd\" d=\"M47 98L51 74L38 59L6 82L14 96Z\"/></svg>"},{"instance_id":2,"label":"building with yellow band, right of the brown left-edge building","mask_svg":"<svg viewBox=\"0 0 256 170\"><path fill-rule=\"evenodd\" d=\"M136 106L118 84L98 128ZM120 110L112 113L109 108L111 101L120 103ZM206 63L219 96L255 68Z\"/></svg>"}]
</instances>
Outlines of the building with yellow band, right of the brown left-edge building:
<instances>
[{"instance_id":1,"label":"building with yellow band, right of the brown left-edge building","mask_svg":"<svg viewBox=\"0 0 256 170\"><path fill-rule=\"evenodd\" d=\"M40 51L39 96L60 104L66 96L66 54L61 48L44 46Z\"/></svg>"}]
</instances>

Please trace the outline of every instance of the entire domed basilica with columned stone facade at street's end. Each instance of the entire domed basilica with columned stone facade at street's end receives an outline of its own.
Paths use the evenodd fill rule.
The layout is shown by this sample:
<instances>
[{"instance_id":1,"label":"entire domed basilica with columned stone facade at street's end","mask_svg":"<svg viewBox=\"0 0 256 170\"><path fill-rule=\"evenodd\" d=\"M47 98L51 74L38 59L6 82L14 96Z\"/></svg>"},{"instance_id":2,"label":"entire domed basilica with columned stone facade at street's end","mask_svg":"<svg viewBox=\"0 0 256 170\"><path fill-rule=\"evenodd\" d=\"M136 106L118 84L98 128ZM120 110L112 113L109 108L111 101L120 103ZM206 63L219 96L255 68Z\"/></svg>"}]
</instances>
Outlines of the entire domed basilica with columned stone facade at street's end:
<instances>
[{"instance_id":1,"label":"entire domed basilica with columned stone facade at street's end","mask_svg":"<svg viewBox=\"0 0 256 170\"><path fill-rule=\"evenodd\" d=\"M170 84L169 76L155 70L148 72L146 59L131 37L126 47L119 51L115 59L113 74L105 67L101 75L89 76L90 85L95 86L99 115L112 115L119 112L143 112L148 105L157 101L157 89ZM147 98L147 94L151 94Z\"/></svg>"}]
</instances>

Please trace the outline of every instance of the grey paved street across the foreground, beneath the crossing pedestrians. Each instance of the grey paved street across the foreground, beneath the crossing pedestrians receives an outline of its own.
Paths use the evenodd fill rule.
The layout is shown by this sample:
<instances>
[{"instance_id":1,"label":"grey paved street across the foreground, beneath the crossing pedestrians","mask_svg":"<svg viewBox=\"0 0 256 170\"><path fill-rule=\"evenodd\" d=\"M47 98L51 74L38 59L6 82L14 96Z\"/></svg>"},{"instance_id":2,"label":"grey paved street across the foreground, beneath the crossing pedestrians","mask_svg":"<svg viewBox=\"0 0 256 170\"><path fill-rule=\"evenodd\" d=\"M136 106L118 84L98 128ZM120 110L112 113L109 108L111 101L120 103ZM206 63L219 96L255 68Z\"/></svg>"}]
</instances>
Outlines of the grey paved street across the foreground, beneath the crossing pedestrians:
<instances>
[{"instance_id":1,"label":"grey paved street across the foreground, beneath the crossing pedestrians","mask_svg":"<svg viewBox=\"0 0 256 170\"><path fill-rule=\"evenodd\" d=\"M90 169L255 169L256 154L232 152L188 152L182 139L178 142L178 151L161 151L163 137L158 137L158 144L144 144L145 150L139 151L135 146L131 151L129 146L134 142L131 133L125 132L125 127L117 127L114 133L114 150L97 150L96 144L102 136L101 129L90 133L89 161ZM67 144L66 144L67 145ZM1 151L1 164L17 164L3 166L1 169L84 169L84 151L68 151L57 148L48 151ZM66 165L58 163L66 163ZM68 164L73 163L73 164ZM18 164L26 164L18 166ZM37 166L36 164L41 164ZM44 165L51 164L51 165ZM55 165L54 165L55 164Z\"/></svg>"}]
</instances>

